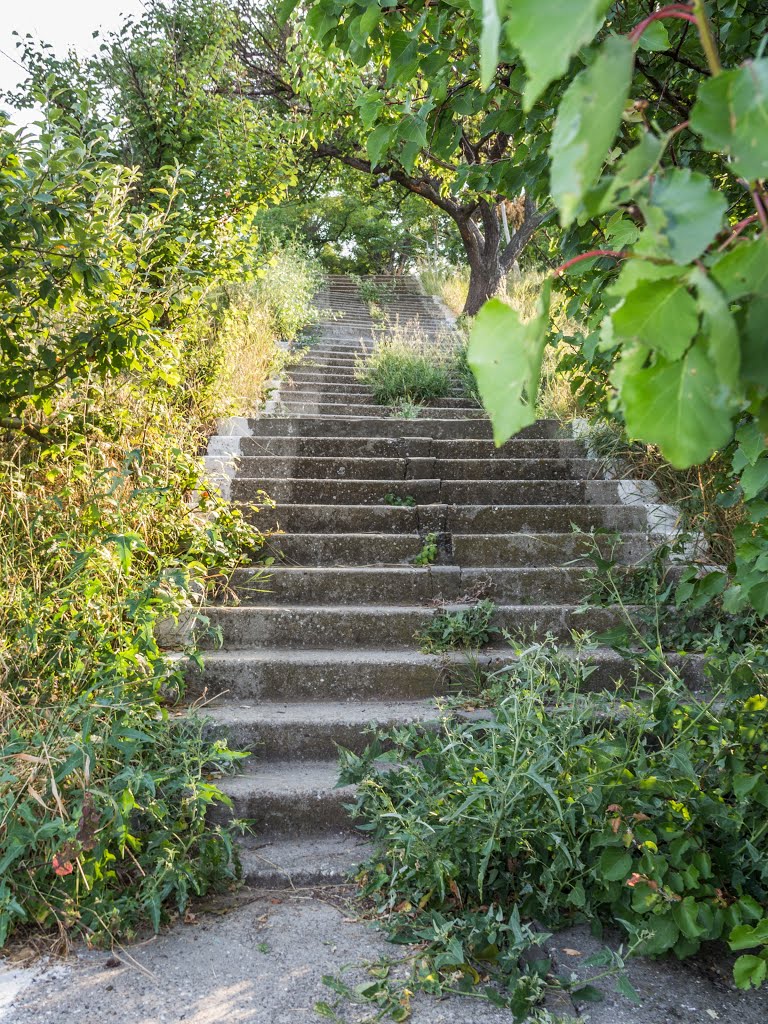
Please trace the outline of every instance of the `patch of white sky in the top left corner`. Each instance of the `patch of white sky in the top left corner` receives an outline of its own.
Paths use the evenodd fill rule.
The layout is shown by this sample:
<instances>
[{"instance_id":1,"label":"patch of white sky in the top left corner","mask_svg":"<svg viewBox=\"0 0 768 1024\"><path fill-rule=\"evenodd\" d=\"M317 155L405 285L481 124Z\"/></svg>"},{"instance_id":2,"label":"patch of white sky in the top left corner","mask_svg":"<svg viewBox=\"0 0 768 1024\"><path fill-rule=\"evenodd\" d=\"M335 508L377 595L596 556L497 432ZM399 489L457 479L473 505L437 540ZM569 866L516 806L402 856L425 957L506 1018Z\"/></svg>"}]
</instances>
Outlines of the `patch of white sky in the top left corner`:
<instances>
[{"instance_id":1,"label":"patch of white sky in the top left corner","mask_svg":"<svg viewBox=\"0 0 768 1024\"><path fill-rule=\"evenodd\" d=\"M51 43L58 56L70 48L93 53L100 43L92 36L96 29L116 29L123 15L142 8L141 0L0 0L0 50L4 51L0 53L0 92L25 78L12 59L16 56L14 30Z\"/></svg>"}]
</instances>

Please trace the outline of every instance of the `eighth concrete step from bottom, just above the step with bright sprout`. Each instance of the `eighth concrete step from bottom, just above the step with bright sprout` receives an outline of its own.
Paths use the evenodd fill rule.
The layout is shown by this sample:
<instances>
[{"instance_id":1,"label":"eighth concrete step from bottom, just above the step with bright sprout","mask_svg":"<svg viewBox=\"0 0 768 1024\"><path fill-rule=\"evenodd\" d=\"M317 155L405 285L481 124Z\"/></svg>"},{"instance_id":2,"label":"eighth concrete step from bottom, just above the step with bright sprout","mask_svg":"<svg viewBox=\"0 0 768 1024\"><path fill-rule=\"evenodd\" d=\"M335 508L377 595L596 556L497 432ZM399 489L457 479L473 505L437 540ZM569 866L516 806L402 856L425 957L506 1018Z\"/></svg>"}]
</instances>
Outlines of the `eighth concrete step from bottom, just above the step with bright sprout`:
<instances>
[{"instance_id":1,"label":"eighth concrete step from bottom, just above the step with bright sprout","mask_svg":"<svg viewBox=\"0 0 768 1024\"><path fill-rule=\"evenodd\" d=\"M236 481L240 483L240 481ZM403 524L403 528L421 532L459 534L566 534L572 527L582 530L609 529L639 531L648 524L644 507L627 505L417 505L415 508L393 508L377 503L347 504L355 481L342 487L337 504L329 501L330 481L268 480L264 481L267 494L281 502L274 509L261 509L246 514L261 529L282 529L288 534L388 532ZM281 492L281 484L286 489ZM330 484L330 486L329 486ZM371 481L380 488L383 498L394 489L392 481ZM478 492L480 488L478 487ZM369 492L371 493L371 492ZM232 489L240 498L239 488ZM354 496L353 496L354 497ZM468 495L467 497L471 497ZM481 496L480 496L481 497ZM309 499L290 502L290 498ZM314 499L312 503L311 499ZM407 513L402 515L401 513ZM411 513L409 516L408 513Z\"/></svg>"}]
</instances>

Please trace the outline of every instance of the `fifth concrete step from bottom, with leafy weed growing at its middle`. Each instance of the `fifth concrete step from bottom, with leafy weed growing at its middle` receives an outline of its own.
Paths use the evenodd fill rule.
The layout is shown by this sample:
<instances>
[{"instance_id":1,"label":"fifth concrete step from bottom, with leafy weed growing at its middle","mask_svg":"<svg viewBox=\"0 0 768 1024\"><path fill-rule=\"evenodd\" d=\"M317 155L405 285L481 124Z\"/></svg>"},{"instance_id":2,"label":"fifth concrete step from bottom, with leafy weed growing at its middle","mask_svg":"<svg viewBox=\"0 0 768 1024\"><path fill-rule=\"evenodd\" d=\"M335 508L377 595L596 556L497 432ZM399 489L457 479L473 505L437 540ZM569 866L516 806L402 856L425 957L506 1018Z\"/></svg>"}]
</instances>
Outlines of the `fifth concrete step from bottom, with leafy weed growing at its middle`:
<instances>
[{"instance_id":1,"label":"fifth concrete step from bottom, with leafy weed growing at its middle","mask_svg":"<svg viewBox=\"0 0 768 1024\"><path fill-rule=\"evenodd\" d=\"M459 611L467 605L445 605ZM413 647L414 634L431 621L434 609L417 605L286 605L226 608L209 605L205 613L211 627L220 629L226 647L278 644L295 647L365 647L379 642L383 647ZM622 621L614 608L590 608L587 613L570 604L499 605L495 625L517 634L543 638L551 633L567 638L572 630L589 628L602 632ZM210 647L215 640L201 636Z\"/></svg>"}]
</instances>

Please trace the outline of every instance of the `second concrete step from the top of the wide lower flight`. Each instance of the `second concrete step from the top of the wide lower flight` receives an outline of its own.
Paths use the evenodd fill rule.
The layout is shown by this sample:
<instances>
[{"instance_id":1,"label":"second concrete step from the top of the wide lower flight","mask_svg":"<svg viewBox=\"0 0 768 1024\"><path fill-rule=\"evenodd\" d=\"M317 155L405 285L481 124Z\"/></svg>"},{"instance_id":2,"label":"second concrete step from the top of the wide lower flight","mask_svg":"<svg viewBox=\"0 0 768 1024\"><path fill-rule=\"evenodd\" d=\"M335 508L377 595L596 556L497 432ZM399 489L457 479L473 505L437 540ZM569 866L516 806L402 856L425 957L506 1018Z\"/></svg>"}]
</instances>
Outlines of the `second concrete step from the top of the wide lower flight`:
<instances>
[{"instance_id":1,"label":"second concrete step from the top of the wide lower flight","mask_svg":"<svg viewBox=\"0 0 768 1024\"><path fill-rule=\"evenodd\" d=\"M569 438L518 440L496 447L485 440L434 440L431 437L240 437L241 456L325 457L343 459L579 459L584 470L584 445ZM594 465L594 464L593 464ZM539 477L542 478L542 477Z\"/></svg>"}]
</instances>

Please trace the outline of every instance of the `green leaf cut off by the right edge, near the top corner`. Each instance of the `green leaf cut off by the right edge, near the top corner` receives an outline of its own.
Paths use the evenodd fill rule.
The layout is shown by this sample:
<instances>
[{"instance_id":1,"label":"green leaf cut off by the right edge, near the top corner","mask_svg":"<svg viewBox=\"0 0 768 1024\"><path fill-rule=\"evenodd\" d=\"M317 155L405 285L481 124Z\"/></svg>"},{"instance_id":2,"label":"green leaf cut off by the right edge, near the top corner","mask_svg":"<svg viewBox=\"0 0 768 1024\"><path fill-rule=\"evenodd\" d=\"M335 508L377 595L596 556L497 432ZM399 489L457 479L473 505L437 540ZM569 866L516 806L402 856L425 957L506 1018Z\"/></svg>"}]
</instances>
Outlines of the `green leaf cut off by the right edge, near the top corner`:
<instances>
[{"instance_id":1,"label":"green leaf cut off by the right edge, near the top corner","mask_svg":"<svg viewBox=\"0 0 768 1024\"><path fill-rule=\"evenodd\" d=\"M707 150L728 154L734 174L768 177L768 59L702 82L690 123Z\"/></svg>"}]
</instances>

